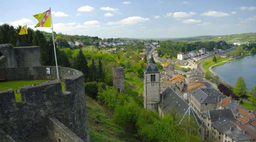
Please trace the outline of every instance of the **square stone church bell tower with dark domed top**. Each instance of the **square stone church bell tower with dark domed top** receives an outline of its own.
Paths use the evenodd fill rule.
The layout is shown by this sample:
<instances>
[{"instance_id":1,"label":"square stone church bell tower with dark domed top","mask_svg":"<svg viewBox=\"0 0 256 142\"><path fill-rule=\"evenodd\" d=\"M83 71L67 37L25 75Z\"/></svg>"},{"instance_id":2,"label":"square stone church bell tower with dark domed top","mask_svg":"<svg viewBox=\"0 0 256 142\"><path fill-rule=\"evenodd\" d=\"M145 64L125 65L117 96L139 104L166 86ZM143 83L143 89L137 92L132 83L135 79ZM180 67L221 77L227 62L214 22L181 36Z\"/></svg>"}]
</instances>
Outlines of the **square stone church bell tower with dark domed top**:
<instances>
[{"instance_id":1,"label":"square stone church bell tower with dark domed top","mask_svg":"<svg viewBox=\"0 0 256 142\"><path fill-rule=\"evenodd\" d=\"M150 63L144 70L144 108L158 111L160 102L160 72L158 67Z\"/></svg>"}]
</instances>

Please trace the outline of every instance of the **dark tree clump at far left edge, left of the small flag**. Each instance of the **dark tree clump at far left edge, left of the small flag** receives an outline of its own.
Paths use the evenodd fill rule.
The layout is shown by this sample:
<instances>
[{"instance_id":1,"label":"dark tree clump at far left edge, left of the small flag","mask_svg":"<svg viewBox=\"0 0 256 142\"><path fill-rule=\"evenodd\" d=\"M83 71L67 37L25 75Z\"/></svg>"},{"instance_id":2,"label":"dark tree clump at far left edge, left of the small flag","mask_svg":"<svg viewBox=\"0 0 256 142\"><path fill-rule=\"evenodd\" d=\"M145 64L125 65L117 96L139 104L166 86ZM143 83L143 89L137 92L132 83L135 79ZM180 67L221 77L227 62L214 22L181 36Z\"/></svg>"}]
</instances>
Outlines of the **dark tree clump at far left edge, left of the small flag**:
<instances>
[{"instance_id":1,"label":"dark tree clump at far left edge, left of the small flag","mask_svg":"<svg viewBox=\"0 0 256 142\"><path fill-rule=\"evenodd\" d=\"M10 43L16 46L17 32L13 26L9 24L3 24L0 26L0 44Z\"/></svg>"}]
</instances>

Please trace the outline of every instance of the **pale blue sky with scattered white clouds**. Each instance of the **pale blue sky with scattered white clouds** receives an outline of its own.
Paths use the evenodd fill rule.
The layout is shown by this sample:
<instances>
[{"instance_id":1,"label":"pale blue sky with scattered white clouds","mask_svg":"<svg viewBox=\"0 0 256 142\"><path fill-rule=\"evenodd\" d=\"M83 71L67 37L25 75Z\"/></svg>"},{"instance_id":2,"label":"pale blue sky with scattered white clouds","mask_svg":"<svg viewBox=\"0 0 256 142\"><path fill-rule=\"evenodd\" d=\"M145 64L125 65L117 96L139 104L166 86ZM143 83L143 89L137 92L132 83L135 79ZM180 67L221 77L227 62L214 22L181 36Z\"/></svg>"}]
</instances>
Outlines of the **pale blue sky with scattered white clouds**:
<instances>
[{"instance_id":1,"label":"pale blue sky with scattered white clouds","mask_svg":"<svg viewBox=\"0 0 256 142\"><path fill-rule=\"evenodd\" d=\"M256 32L256 0L1 0L0 25L34 28L51 7L53 30L100 38L178 38Z\"/></svg>"}]
</instances>

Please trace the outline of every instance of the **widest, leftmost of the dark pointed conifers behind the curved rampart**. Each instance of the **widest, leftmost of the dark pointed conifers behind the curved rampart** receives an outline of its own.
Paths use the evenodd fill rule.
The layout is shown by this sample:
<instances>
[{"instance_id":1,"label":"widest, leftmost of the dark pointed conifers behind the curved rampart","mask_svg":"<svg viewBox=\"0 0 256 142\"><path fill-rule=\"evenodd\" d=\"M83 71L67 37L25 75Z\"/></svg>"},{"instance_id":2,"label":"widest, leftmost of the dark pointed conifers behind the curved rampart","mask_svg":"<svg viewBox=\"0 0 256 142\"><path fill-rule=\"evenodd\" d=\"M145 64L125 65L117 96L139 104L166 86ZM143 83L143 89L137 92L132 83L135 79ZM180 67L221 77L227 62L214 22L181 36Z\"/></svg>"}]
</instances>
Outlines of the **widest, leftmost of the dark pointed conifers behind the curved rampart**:
<instances>
[{"instance_id":1,"label":"widest, leftmost of the dark pointed conifers behind the curved rampart","mask_svg":"<svg viewBox=\"0 0 256 142\"><path fill-rule=\"evenodd\" d=\"M88 81L89 68L87 66L87 60L86 60L84 54L82 53L81 49L79 50L78 55L74 59L73 68L84 73L84 80L85 80L85 82Z\"/></svg>"}]
</instances>

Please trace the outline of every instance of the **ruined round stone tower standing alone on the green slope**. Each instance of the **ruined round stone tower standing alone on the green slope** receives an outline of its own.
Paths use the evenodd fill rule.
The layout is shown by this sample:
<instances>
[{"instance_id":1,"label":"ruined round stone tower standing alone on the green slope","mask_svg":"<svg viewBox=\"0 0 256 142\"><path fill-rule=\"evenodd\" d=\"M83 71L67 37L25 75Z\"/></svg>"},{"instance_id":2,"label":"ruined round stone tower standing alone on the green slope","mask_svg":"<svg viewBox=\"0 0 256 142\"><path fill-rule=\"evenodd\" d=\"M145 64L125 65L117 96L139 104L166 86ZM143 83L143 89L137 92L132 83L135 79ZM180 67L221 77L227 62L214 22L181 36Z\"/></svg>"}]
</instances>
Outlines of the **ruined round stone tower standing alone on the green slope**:
<instances>
[{"instance_id":1,"label":"ruined round stone tower standing alone on the green slope","mask_svg":"<svg viewBox=\"0 0 256 142\"><path fill-rule=\"evenodd\" d=\"M124 92L124 69L123 67L112 68L113 87L117 88L117 92Z\"/></svg>"}]
</instances>

